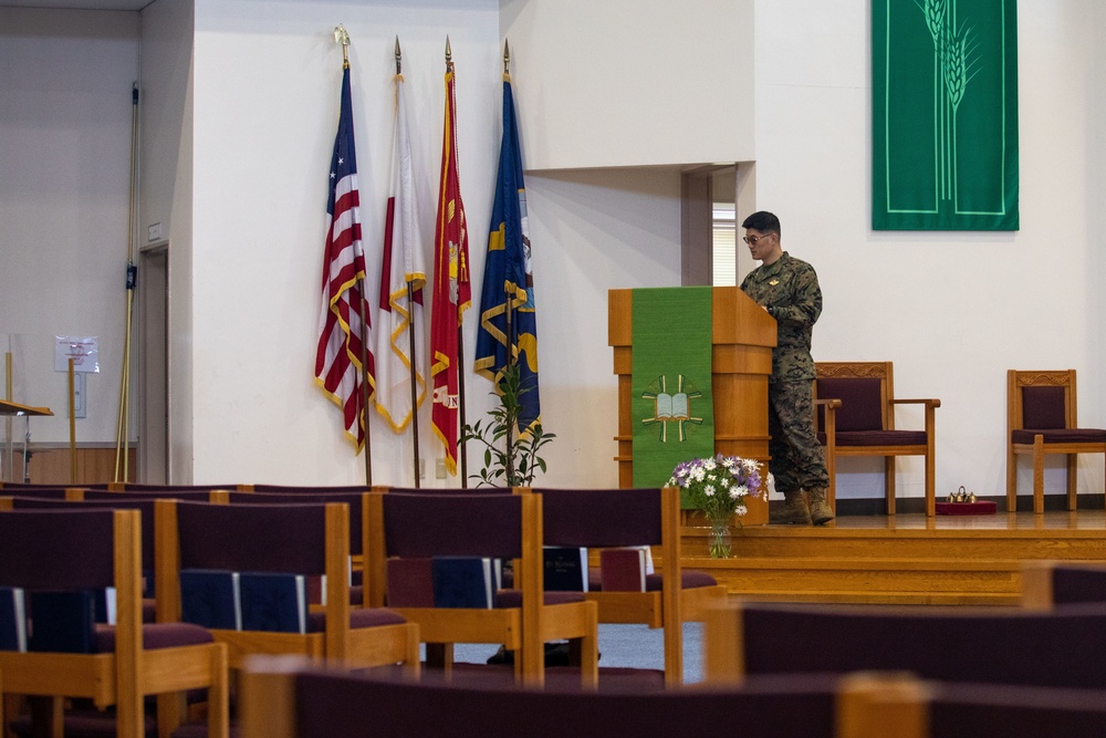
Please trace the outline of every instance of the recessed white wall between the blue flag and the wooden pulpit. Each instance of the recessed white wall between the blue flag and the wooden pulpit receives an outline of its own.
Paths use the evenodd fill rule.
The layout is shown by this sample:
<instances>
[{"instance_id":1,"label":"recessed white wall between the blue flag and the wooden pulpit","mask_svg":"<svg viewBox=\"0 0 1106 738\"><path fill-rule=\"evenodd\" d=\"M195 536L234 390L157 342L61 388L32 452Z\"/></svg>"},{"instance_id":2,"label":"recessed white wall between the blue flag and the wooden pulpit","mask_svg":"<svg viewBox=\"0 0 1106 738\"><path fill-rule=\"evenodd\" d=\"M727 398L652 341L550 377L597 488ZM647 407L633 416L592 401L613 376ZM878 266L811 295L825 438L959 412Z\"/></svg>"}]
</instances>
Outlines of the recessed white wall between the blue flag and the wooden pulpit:
<instances>
[{"instance_id":1,"label":"recessed white wall between the blue flag and the wooden pulpit","mask_svg":"<svg viewBox=\"0 0 1106 738\"><path fill-rule=\"evenodd\" d=\"M680 175L668 168L530 173L542 427L550 486L617 487L618 384L607 290L680 281ZM477 380L479 386L489 383ZM487 392L487 391L484 391ZM470 468L480 459L470 455Z\"/></svg>"}]
</instances>

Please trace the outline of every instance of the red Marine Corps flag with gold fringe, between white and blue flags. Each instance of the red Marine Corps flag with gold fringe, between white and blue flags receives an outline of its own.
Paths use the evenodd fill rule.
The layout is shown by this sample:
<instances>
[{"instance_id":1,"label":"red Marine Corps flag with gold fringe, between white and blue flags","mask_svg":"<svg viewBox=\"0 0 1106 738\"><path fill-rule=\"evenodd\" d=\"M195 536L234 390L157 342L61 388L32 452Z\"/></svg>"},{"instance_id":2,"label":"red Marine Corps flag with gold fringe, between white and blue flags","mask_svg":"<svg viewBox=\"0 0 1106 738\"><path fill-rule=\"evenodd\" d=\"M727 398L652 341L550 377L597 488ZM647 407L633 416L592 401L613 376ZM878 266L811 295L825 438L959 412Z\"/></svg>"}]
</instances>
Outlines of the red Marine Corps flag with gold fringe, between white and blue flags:
<instances>
[{"instance_id":1,"label":"red Marine Corps flag with gold fringe, between white and blue flags","mask_svg":"<svg viewBox=\"0 0 1106 738\"><path fill-rule=\"evenodd\" d=\"M461 315L472 301L465 206L457 176L457 113L453 63L446 40L446 117L441 144L441 186L435 228L434 305L430 310L430 376L434 380L434 434L446 447L446 468L457 474L460 418Z\"/></svg>"}]
</instances>

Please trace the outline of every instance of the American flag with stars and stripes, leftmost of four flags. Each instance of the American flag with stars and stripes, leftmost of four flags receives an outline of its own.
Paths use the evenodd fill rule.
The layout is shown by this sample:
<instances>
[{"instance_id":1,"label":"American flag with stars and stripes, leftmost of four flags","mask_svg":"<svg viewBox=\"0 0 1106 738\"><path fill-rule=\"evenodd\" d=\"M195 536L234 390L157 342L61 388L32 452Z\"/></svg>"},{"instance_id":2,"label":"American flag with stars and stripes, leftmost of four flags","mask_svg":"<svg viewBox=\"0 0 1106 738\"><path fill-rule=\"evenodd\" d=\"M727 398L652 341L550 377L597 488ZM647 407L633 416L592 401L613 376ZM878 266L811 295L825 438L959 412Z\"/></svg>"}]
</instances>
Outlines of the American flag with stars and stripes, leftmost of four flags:
<instances>
[{"instance_id":1,"label":"American flag with stars and stripes, leftmost of four flags","mask_svg":"<svg viewBox=\"0 0 1106 738\"><path fill-rule=\"evenodd\" d=\"M362 342L365 250L361 241L359 206L353 102L349 94L349 69L346 67L342 72L342 112L334 138L326 201L326 245L323 254L322 305L319 312L319 347L315 352L315 384L342 408L345 435L356 445L357 450L365 443L363 355L368 362L367 380L369 386L373 386L373 355L367 353L367 347Z\"/></svg>"}]
</instances>

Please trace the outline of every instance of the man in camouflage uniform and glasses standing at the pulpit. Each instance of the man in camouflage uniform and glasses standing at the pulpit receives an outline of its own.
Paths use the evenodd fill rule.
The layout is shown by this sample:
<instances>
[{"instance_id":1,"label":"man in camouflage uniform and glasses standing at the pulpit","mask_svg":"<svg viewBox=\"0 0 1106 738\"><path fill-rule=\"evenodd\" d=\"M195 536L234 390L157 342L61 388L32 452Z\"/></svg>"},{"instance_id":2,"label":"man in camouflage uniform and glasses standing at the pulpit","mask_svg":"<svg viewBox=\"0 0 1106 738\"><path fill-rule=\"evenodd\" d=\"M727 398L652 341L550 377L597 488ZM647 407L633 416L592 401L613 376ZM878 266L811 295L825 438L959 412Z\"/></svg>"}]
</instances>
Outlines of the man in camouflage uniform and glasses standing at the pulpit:
<instances>
[{"instance_id":1,"label":"man in camouflage uniform and glasses standing at the pulpit","mask_svg":"<svg viewBox=\"0 0 1106 738\"><path fill-rule=\"evenodd\" d=\"M761 266L741 291L776 320L772 376L768 385L769 454L775 489L785 499L780 522L822 526L833 520L826 500L830 477L814 433L814 358L811 333L822 314L822 289L814 268L780 246L780 219L754 212L741 224L742 239ZM803 492L810 496L810 501Z\"/></svg>"}]
</instances>

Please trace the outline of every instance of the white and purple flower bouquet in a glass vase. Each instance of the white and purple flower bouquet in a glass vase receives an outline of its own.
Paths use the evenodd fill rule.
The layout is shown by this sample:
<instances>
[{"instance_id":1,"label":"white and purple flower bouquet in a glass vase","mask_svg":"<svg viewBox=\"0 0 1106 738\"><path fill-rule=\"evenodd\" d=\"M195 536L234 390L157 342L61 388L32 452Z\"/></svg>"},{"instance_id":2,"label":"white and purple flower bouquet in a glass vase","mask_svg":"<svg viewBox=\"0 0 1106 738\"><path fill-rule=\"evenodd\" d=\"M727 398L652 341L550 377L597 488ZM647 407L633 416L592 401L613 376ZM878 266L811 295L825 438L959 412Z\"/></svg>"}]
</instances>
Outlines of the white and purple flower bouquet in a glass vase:
<instances>
[{"instance_id":1,"label":"white and purple flower bouquet in a glass vase","mask_svg":"<svg viewBox=\"0 0 1106 738\"><path fill-rule=\"evenodd\" d=\"M681 461L672 470L668 485L687 490L688 500L710 521L708 549L712 559L730 555L730 519L745 514L745 497L760 497L760 466L753 459L718 454Z\"/></svg>"}]
</instances>

